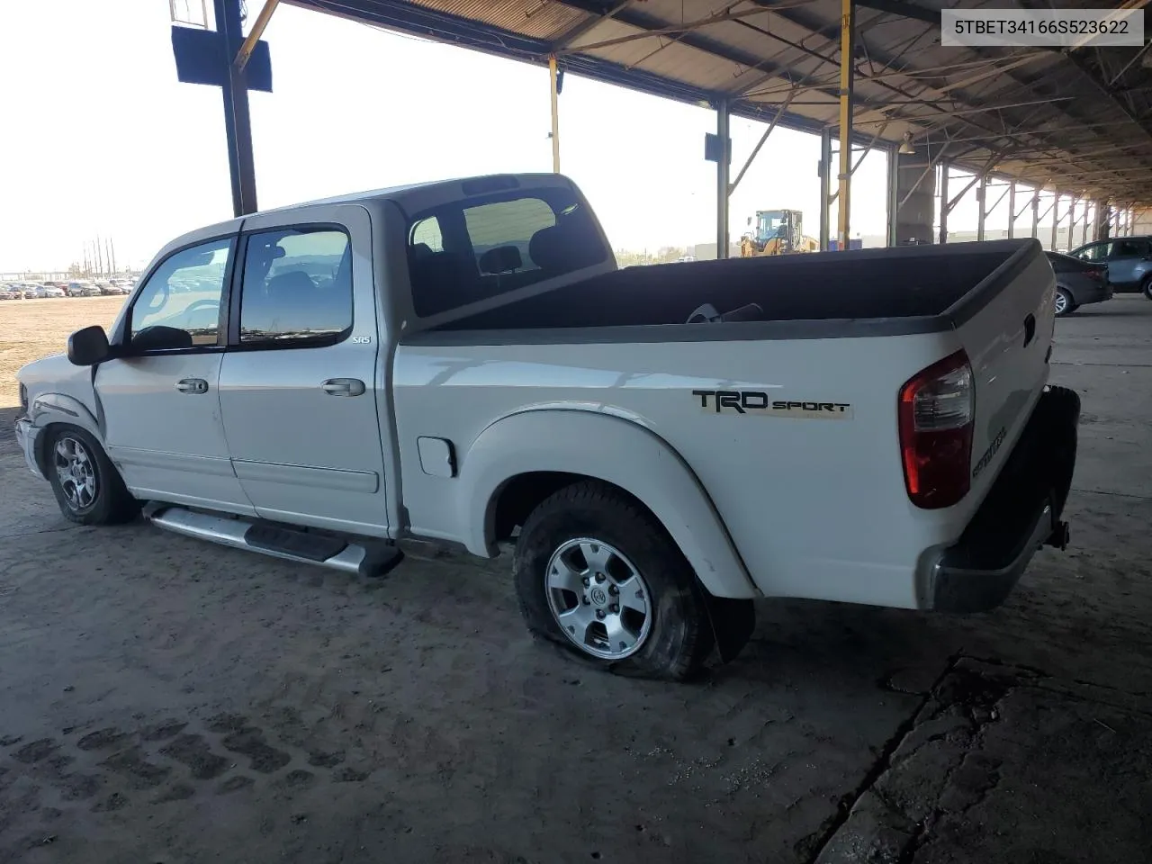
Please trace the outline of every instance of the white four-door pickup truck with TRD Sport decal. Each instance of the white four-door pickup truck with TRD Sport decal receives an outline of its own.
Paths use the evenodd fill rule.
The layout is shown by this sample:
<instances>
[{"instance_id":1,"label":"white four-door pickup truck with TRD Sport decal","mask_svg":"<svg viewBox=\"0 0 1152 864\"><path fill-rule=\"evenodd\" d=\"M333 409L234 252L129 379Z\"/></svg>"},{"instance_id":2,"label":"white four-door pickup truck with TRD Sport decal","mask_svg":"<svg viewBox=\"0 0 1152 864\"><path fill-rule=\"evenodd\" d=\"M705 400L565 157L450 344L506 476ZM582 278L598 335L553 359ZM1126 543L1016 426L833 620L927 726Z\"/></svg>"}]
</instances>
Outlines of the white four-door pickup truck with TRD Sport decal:
<instances>
[{"instance_id":1,"label":"white four-door pickup truck with TRD Sport decal","mask_svg":"<svg viewBox=\"0 0 1152 864\"><path fill-rule=\"evenodd\" d=\"M532 632L682 679L755 598L982 611L1066 545L1054 297L1034 240L619 268L566 177L439 182L173 241L16 433L84 524L362 575L510 541Z\"/></svg>"}]
</instances>

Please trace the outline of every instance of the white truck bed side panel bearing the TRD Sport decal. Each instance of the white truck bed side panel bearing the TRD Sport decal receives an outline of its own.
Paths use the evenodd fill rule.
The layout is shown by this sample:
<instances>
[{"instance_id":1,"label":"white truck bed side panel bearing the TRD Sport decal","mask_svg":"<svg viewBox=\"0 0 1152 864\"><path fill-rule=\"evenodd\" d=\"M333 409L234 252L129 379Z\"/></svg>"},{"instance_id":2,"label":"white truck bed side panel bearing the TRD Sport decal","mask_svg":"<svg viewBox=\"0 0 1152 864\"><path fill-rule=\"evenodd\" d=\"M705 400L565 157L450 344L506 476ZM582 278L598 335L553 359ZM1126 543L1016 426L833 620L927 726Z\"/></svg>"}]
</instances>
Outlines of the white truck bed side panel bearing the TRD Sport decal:
<instances>
[{"instance_id":1,"label":"white truck bed side panel bearing the TRD Sport decal","mask_svg":"<svg viewBox=\"0 0 1152 864\"><path fill-rule=\"evenodd\" d=\"M719 325L735 327L738 325ZM483 341L483 335L477 336ZM929 546L955 539L963 508L927 511L904 490L896 396L956 350L956 334L438 347L402 344L394 363L402 487L414 533L464 537L453 480L425 475L416 439L453 441L461 468L490 424L537 408L575 408L639 424L696 473L758 588L916 607ZM695 392L831 402L839 412L774 416ZM759 399L752 399L756 404ZM594 449L596 440L588 447ZM605 460L628 454L602 453ZM532 470L525 464L524 470Z\"/></svg>"}]
</instances>

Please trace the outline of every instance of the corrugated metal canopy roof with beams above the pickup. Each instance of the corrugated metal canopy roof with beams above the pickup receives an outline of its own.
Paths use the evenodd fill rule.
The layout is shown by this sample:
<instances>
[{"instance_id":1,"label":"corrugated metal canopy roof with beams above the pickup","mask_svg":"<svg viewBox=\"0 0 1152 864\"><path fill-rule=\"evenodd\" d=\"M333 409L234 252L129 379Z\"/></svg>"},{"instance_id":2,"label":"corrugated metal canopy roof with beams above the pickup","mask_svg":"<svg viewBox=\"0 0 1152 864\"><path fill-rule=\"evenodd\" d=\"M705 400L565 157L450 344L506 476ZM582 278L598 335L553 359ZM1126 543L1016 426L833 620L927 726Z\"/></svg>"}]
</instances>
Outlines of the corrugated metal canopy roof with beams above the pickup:
<instances>
[{"instance_id":1,"label":"corrugated metal canopy roof with beams above the pickup","mask_svg":"<svg viewBox=\"0 0 1152 864\"><path fill-rule=\"evenodd\" d=\"M562 68L733 114L838 124L840 0L287 0L415 36ZM1009 0L1010 2L1011 0ZM1128 0L1142 8L1149 0ZM1020 8L1115 8L1016 0ZM858 0L854 126L911 132L932 157L1061 192L1152 205L1152 52L942 47L941 8ZM941 153L941 147L947 151Z\"/></svg>"}]
</instances>

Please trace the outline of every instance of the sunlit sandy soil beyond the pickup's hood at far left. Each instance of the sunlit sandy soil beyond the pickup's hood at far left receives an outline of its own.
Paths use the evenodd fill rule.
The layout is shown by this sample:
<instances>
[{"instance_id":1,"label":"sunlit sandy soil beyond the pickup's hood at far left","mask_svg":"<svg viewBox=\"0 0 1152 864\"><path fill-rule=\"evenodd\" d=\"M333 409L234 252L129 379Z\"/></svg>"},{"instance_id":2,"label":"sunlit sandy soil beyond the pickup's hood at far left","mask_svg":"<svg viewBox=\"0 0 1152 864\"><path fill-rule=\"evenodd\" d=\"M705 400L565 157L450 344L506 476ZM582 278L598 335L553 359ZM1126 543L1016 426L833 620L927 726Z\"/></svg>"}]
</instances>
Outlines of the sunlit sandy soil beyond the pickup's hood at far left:
<instances>
[{"instance_id":1,"label":"sunlit sandy soil beyond the pickup's hood at far left","mask_svg":"<svg viewBox=\"0 0 1152 864\"><path fill-rule=\"evenodd\" d=\"M58 297L0 303L0 408L20 404L16 372L65 350L68 335L90 324L108 328L127 297Z\"/></svg>"}]
</instances>

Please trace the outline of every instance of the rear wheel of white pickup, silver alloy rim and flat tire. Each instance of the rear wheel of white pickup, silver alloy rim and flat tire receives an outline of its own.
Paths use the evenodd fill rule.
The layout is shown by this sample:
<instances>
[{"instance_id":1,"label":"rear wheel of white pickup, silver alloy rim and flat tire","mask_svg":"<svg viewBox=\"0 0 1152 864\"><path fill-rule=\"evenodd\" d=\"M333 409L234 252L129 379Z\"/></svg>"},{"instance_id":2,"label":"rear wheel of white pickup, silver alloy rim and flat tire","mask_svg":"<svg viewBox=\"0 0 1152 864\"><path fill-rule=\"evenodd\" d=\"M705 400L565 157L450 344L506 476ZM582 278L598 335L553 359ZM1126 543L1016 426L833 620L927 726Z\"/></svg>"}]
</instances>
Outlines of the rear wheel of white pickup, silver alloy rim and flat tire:
<instances>
[{"instance_id":1,"label":"rear wheel of white pickup, silver alloy rim and flat tire","mask_svg":"<svg viewBox=\"0 0 1152 864\"><path fill-rule=\"evenodd\" d=\"M712 651L691 566L647 510L605 484L545 499L521 530L513 575L529 629L599 667L682 681Z\"/></svg>"}]
</instances>

